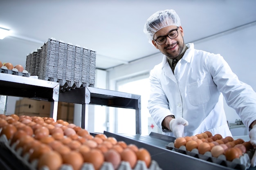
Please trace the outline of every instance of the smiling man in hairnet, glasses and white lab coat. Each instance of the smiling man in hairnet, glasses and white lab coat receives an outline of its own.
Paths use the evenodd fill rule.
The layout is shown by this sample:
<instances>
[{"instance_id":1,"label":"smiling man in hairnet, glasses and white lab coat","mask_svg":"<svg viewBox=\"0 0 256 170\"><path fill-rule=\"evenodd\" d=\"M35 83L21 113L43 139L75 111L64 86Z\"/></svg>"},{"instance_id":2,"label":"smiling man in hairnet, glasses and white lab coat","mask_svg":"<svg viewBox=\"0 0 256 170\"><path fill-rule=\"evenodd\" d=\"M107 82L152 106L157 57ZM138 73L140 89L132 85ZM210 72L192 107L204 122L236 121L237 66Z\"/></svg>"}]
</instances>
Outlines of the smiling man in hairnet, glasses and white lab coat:
<instances>
[{"instance_id":1,"label":"smiling man in hairnet, glasses and white lab coat","mask_svg":"<svg viewBox=\"0 0 256 170\"><path fill-rule=\"evenodd\" d=\"M245 126L252 128L249 135L255 145L256 93L239 81L223 57L184 44L184 31L174 10L151 15L144 33L164 54L162 63L150 71L148 101L150 115L163 134L182 137L210 131L232 136L223 108L224 96Z\"/></svg>"}]
</instances>

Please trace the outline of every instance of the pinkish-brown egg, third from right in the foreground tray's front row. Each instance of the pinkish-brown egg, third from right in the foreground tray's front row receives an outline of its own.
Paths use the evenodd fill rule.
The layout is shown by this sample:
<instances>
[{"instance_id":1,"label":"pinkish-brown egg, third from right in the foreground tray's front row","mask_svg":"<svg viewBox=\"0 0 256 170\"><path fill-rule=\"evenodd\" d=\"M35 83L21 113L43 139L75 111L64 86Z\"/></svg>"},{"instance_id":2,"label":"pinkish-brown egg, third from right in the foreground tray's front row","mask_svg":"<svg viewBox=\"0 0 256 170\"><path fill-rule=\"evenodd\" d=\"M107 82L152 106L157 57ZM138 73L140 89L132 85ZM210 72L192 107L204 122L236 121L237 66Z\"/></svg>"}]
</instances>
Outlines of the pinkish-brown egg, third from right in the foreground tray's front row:
<instances>
[{"instance_id":1,"label":"pinkish-brown egg, third from right in the foreground tray's front row","mask_svg":"<svg viewBox=\"0 0 256 170\"><path fill-rule=\"evenodd\" d=\"M105 161L112 163L115 170L119 167L121 163L121 156L115 149L110 149L105 152L104 159Z\"/></svg>"}]
</instances>

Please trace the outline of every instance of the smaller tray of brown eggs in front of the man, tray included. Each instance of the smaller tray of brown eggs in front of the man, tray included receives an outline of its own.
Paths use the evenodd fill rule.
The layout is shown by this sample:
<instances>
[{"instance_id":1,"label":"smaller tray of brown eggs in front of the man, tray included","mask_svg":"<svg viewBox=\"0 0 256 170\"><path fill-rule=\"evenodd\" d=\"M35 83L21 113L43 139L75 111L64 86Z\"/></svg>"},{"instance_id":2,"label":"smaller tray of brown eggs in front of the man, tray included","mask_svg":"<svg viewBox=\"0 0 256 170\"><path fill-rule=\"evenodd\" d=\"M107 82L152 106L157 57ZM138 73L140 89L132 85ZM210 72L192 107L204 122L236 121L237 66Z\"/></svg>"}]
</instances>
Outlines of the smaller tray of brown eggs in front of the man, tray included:
<instances>
[{"instance_id":1,"label":"smaller tray of brown eggs in front of the man, tray included","mask_svg":"<svg viewBox=\"0 0 256 170\"><path fill-rule=\"evenodd\" d=\"M167 149L180 152L205 161L238 170L250 168L254 147L250 141L223 138L206 131L194 136L179 137L166 146Z\"/></svg>"}]
</instances>

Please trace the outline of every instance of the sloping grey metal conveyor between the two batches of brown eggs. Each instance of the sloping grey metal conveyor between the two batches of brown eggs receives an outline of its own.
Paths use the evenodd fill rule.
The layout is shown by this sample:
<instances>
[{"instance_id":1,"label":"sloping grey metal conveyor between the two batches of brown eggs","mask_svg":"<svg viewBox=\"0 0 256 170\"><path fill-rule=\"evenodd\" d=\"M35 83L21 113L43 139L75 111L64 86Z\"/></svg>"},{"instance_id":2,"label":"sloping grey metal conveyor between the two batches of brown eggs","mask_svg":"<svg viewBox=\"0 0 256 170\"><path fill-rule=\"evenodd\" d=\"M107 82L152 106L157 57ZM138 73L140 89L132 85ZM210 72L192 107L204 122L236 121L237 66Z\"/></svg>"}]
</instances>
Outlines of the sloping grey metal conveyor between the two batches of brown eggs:
<instances>
[{"instance_id":1,"label":"sloping grey metal conveyor between the two batches of brown eggs","mask_svg":"<svg viewBox=\"0 0 256 170\"><path fill-rule=\"evenodd\" d=\"M117 141L125 141L127 144L135 144L139 148L146 148L151 158L159 164L163 170L234 170L216 163L184 155L173 150L166 149L166 145L175 138L151 133L150 135L114 134L104 131L107 137L115 137ZM249 168L248 170L256 170Z\"/></svg>"}]
</instances>

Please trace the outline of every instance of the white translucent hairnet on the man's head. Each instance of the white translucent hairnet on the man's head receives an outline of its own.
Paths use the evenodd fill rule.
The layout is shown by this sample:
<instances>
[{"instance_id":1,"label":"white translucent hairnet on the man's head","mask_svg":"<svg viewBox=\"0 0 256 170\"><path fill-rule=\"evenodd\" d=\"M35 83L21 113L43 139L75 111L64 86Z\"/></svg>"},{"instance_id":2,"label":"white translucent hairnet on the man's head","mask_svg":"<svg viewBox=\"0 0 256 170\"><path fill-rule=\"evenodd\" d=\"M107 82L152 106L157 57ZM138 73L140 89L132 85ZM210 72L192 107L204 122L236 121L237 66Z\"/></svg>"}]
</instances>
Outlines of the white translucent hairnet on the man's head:
<instances>
[{"instance_id":1,"label":"white translucent hairnet on the man's head","mask_svg":"<svg viewBox=\"0 0 256 170\"><path fill-rule=\"evenodd\" d=\"M157 11L151 15L144 25L144 33L148 37L148 42L152 43L155 33L166 26L180 26L180 17L173 9Z\"/></svg>"}]
</instances>

